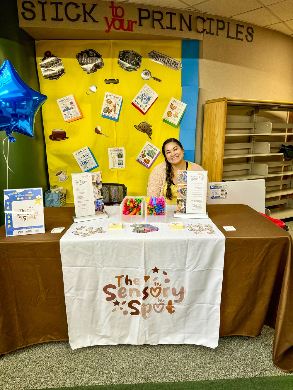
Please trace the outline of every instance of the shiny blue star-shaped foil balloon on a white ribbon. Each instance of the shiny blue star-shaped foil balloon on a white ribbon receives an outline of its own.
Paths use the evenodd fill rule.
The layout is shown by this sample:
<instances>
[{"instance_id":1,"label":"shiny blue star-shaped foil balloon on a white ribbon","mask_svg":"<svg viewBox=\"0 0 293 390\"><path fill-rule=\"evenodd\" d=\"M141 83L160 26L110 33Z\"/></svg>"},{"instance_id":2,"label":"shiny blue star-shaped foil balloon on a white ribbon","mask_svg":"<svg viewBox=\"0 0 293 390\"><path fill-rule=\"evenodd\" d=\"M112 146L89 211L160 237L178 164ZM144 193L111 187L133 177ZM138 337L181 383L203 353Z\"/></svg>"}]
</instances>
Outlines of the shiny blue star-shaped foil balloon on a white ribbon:
<instances>
[{"instance_id":1,"label":"shiny blue star-shaped foil balloon on a white ribbon","mask_svg":"<svg viewBox=\"0 0 293 390\"><path fill-rule=\"evenodd\" d=\"M47 97L30 88L6 60L0 68L0 131L34 137L35 116Z\"/></svg>"}]
</instances>

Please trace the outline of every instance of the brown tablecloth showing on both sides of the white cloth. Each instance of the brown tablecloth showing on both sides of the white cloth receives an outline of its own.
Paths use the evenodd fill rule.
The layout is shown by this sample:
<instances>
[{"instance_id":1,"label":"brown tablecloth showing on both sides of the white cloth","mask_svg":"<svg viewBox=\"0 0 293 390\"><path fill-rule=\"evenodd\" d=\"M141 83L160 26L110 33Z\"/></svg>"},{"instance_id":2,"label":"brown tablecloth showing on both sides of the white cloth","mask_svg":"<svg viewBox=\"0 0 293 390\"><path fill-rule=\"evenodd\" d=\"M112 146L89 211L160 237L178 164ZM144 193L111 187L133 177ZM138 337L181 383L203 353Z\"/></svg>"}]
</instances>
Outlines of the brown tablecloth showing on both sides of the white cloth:
<instances>
[{"instance_id":1,"label":"brown tablecloth showing on both sides of the white cloth","mask_svg":"<svg viewBox=\"0 0 293 390\"><path fill-rule=\"evenodd\" d=\"M256 337L272 326L273 363L293 371L291 236L245 205L207 211L226 237L220 335ZM73 207L45 208L45 234L6 238L0 228L0 354L68 340L59 239L72 215ZM65 230L51 234L54 227Z\"/></svg>"}]
</instances>

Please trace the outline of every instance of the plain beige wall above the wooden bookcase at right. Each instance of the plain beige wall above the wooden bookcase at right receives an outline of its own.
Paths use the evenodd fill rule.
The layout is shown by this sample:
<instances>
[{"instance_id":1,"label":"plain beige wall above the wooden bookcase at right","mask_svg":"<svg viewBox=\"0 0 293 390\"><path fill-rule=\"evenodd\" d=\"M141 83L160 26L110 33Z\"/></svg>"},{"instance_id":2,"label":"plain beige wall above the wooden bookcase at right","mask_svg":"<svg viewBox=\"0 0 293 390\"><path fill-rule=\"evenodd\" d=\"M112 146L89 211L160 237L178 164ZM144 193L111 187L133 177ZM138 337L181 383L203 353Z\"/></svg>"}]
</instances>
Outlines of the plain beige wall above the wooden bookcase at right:
<instances>
[{"instance_id":1,"label":"plain beige wall above the wooden bookcase at right","mask_svg":"<svg viewBox=\"0 0 293 390\"><path fill-rule=\"evenodd\" d=\"M211 18L229 21L205 14ZM239 22L239 24L244 24ZM195 162L201 161L202 118L206 100L219 97L293 101L293 39L253 26L254 39L236 41L203 34L200 41L199 97Z\"/></svg>"}]
</instances>

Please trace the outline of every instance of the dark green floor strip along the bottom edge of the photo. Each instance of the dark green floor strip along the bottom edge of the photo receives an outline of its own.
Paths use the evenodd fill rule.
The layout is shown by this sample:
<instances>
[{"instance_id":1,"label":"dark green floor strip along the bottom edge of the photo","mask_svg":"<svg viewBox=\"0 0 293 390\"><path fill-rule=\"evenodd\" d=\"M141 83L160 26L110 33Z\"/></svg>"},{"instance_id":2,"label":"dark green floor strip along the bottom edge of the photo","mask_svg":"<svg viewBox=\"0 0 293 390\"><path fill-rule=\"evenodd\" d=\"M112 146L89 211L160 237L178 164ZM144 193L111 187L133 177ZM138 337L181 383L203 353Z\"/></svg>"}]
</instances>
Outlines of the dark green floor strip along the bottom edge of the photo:
<instances>
[{"instance_id":1,"label":"dark green floor strip along the bottom edge of the photo","mask_svg":"<svg viewBox=\"0 0 293 390\"><path fill-rule=\"evenodd\" d=\"M284 375L262 376L257 378L217 379L192 382L134 383L131 385L54 387L36 390L292 390L292 388L293 376Z\"/></svg>"}]
</instances>

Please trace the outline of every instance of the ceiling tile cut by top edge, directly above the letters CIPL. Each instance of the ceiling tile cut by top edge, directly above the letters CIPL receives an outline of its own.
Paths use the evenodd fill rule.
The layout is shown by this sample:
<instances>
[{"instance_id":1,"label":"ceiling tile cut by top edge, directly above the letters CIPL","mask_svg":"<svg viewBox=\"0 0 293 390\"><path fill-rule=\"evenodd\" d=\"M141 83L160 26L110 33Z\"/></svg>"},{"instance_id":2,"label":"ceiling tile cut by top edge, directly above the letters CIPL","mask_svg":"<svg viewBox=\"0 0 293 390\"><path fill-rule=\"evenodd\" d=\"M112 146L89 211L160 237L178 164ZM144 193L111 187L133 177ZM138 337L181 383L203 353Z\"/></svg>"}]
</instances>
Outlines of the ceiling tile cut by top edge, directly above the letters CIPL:
<instances>
[{"instance_id":1,"label":"ceiling tile cut by top edge, directly above the letters CIPL","mask_svg":"<svg viewBox=\"0 0 293 390\"><path fill-rule=\"evenodd\" d=\"M208 14L230 17L246 11L261 7L257 0L208 0L197 4L197 9Z\"/></svg>"}]
</instances>

